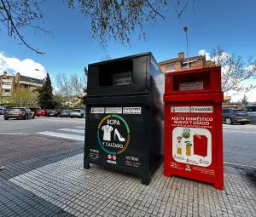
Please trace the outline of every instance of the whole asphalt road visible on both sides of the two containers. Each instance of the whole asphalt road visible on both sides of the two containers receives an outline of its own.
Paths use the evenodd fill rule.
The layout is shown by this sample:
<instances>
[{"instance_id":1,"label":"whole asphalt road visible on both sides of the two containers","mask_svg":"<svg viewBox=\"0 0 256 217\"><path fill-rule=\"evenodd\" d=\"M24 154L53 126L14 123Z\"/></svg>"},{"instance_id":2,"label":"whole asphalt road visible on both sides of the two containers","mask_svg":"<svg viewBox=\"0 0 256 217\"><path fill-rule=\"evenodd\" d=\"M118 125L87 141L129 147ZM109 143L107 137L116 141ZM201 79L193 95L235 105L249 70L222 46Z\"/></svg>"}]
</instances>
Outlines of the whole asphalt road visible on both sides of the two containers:
<instances>
[{"instance_id":1,"label":"whole asphalt road visible on both sides of the two containers","mask_svg":"<svg viewBox=\"0 0 256 217\"><path fill-rule=\"evenodd\" d=\"M79 118L36 117L3 120L0 116L0 166L43 152L84 146L85 120ZM224 162L256 168L256 124L223 125Z\"/></svg>"}]
</instances>

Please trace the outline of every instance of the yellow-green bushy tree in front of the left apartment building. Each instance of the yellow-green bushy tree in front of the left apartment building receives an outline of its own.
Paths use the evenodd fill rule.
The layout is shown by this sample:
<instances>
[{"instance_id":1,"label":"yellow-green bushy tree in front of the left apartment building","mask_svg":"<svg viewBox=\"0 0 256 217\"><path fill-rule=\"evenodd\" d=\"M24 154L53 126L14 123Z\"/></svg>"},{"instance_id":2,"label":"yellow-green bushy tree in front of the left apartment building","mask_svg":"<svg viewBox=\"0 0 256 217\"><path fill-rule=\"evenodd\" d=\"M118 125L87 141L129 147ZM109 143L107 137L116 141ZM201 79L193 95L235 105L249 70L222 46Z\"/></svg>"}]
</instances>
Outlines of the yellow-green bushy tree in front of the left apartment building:
<instances>
[{"instance_id":1,"label":"yellow-green bushy tree in front of the left apartment building","mask_svg":"<svg viewBox=\"0 0 256 217\"><path fill-rule=\"evenodd\" d=\"M15 89L8 100L9 106L38 107L38 93L31 89Z\"/></svg>"}]
</instances>

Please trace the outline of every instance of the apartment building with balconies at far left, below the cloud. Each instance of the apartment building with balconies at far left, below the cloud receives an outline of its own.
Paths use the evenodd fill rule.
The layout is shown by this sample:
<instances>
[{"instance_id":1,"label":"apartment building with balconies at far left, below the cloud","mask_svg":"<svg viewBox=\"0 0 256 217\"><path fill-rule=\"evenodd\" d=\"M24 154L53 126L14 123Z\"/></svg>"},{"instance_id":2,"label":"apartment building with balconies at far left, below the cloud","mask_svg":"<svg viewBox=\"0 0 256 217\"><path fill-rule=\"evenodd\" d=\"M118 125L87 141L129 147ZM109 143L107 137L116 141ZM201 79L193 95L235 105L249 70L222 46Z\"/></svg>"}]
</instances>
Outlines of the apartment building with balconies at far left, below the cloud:
<instances>
[{"instance_id":1,"label":"apartment building with balconies at far left, below the cloud","mask_svg":"<svg viewBox=\"0 0 256 217\"><path fill-rule=\"evenodd\" d=\"M11 96L11 93L15 89L37 89L43 86L43 80L21 76L20 73L16 75L9 75L7 71L3 71L3 75L0 76L0 94L5 96Z\"/></svg>"}]
</instances>

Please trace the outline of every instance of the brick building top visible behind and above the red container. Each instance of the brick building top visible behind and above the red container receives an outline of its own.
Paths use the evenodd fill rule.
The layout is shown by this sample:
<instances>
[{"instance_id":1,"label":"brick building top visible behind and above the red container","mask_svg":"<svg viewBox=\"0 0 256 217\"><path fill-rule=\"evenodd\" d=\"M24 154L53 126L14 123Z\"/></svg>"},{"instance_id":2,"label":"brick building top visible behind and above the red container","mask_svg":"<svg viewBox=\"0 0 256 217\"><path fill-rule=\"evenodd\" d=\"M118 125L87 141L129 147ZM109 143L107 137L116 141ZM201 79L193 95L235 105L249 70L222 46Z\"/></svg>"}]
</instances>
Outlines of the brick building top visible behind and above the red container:
<instances>
[{"instance_id":1,"label":"brick building top visible behind and above the red container","mask_svg":"<svg viewBox=\"0 0 256 217\"><path fill-rule=\"evenodd\" d=\"M184 58L183 52L178 53L177 58L161 61L158 63L158 65L160 66L161 71L164 73L184 70L186 68L196 69L215 66L214 62L206 60L205 55Z\"/></svg>"}]
</instances>

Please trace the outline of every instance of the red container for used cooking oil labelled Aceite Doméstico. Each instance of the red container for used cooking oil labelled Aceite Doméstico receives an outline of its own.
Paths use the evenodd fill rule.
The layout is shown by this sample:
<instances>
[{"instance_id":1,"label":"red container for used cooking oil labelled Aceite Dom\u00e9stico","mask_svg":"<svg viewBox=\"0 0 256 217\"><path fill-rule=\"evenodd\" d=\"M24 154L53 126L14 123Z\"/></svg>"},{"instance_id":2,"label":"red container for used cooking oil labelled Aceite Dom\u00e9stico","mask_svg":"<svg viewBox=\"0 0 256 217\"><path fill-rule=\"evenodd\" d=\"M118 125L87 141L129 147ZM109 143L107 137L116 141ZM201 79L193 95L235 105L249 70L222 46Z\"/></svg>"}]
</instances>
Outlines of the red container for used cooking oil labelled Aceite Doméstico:
<instances>
[{"instance_id":1,"label":"red container for used cooking oil labelled Aceite Dom\u00e9stico","mask_svg":"<svg viewBox=\"0 0 256 217\"><path fill-rule=\"evenodd\" d=\"M224 189L221 68L166 74L164 174Z\"/></svg>"}]
</instances>

